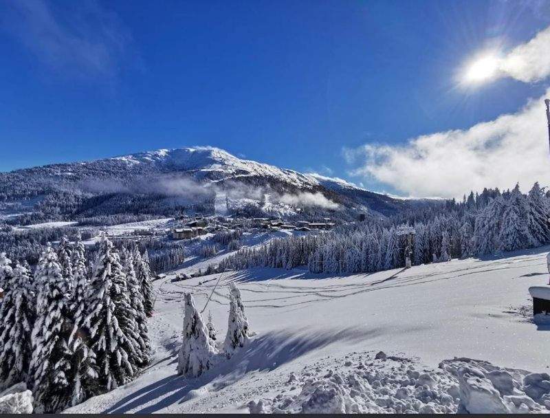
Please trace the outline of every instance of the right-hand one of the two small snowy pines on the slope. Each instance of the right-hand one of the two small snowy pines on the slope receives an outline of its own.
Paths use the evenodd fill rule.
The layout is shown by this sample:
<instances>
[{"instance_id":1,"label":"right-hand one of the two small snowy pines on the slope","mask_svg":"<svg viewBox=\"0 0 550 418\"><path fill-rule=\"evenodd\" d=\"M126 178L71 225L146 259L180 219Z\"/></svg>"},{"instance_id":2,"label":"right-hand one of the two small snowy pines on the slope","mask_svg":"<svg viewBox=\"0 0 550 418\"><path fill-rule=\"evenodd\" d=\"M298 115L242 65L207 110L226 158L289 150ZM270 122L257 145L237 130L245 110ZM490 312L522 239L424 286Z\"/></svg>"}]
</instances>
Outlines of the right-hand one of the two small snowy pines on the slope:
<instances>
[{"instance_id":1,"label":"right-hand one of the two small snowy pines on the slope","mask_svg":"<svg viewBox=\"0 0 550 418\"><path fill-rule=\"evenodd\" d=\"M241 291L234 283L229 283L229 318L228 333L223 342L223 351L228 358L237 347L243 347L248 342L248 320L241 299Z\"/></svg>"}]
</instances>

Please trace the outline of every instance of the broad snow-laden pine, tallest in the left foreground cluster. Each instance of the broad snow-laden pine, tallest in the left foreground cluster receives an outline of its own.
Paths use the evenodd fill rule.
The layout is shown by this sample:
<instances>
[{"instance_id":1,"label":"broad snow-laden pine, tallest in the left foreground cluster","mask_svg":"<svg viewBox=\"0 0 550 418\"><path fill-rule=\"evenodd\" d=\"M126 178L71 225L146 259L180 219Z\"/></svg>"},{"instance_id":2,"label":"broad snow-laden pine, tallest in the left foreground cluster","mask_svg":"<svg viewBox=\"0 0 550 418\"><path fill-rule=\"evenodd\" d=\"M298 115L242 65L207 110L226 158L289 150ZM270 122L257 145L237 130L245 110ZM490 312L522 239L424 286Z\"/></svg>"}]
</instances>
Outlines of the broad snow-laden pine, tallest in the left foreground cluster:
<instances>
[{"instance_id":1,"label":"broad snow-laden pine, tallest in the left foreground cluster","mask_svg":"<svg viewBox=\"0 0 550 418\"><path fill-rule=\"evenodd\" d=\"M135 341L122 331L120 320L126 318L119 318L122 281L119 256L103 235L89 283L85 326L89 329L89 347L96 356L98 382L104 391L130 382L136 371Z\"/></svg>"}]
</instances>

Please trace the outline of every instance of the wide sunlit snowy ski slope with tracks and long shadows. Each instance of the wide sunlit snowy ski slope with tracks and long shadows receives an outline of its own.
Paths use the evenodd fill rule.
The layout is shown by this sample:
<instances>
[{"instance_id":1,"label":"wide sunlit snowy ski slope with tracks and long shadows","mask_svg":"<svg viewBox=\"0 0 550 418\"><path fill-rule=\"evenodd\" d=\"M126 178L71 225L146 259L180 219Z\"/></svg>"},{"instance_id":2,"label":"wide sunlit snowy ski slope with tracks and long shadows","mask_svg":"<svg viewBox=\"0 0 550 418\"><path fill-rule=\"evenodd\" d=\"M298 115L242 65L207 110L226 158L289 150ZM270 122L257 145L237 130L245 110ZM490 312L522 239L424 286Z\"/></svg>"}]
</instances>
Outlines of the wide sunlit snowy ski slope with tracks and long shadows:
<instances>
[{"instance_id":1,"label":"wide sunlit snowy ski slope with tracks and long shadows","mask_svg":"<svg viewBox=\"0 0 550 418\"><path fill-rule=\"evenodd\" d=\"M196 379L175 374L183 297L192 292L202 309L219 275L177 283L168 276L155 282L151 366L131 384L67 412L298 412L300 396L306 395L307 411L315 412L312 393L340 392L340 401L331 401L332 412L344 408L342 399L348 399L347 411L384 412L384 403L397 408L397 402L403 412L456 412L452 398L458 389L450 371L456 370L452 364L470 360L455 357L478 359L474 364L486 370L494 367L487 362L509 368L519 380L527 371L549 372L550 325L530 320L528 292L530 286L548 283L549 250L345 277L274 269L225 273L203 315L212 312L218 341L223 341L226 285L236 281L256 335L234 358ZM379 351L393 358L375 360ZM443 360L449 360L445 370L438 368ZM372 383L361 390L374 393L376 401L357 404L360 398L346 393L349 384L333 389L333 382L341 380L335 373L347 375L346 382L351 379L359 388ZM410 386L403 401L399 393L388 395L411 376L427 386L417 384L415 391ZM451 400L448 393L455 394ZM525 407L518 408L514 411Z\"/></svg>"}]
</instances>

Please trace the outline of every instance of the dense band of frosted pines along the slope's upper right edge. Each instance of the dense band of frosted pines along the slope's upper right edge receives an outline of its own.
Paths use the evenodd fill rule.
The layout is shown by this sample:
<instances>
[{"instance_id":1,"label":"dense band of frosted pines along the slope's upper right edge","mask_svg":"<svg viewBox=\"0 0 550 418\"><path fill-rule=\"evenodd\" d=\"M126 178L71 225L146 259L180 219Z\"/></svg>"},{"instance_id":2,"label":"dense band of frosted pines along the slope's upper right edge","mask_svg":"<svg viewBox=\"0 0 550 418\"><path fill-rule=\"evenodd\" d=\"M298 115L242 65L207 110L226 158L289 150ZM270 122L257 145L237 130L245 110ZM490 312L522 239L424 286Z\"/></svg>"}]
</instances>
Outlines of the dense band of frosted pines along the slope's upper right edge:
<instances>
[{"instance_id":1,"label":"dense band of frosted pines along the slope's upper right edge","mask_svg":"<svg viewBox=\"0 0 550 418\"><path fill-rule=\"evenodd\" d=\"M291 269L307 265L311 272L377 272L405 263L404 228L415 230L412 263L448 261L497 251L533 248L550 243L549 199L538 183L523 195L519 186L500 192L448 201L441 210L417 208L397 217L352 223L327 234L276 239L260 248L245 248L221 261L219 271L250 267ZM407 251L408 252L408 251Z\"/></svg>"}]
</instances>

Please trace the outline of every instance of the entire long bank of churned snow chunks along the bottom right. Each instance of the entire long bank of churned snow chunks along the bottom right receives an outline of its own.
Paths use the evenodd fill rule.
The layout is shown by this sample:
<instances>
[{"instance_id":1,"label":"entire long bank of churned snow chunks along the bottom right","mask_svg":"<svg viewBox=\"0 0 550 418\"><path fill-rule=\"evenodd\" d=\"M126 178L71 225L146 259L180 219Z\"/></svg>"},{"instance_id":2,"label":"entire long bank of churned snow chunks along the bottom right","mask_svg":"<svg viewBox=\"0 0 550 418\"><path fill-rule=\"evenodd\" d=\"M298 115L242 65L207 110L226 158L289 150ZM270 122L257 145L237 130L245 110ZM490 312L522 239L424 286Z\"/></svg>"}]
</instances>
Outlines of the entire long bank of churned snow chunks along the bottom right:
<instances>
[{"instance_id":1,"label":"entire long bank of churned snow chunks along the bottom right","mask_svg":"<svg viewBox=\"0 0 550 418\"><path fill-rule=\"evenodd\" d=\"M272 398L248 402L251 413L548 413L550 377L483 360L443 360L428 369L374 351L311 364L292 373ZM291 386L289 388L289 386Z\"/></svg>"}]
</instances>

